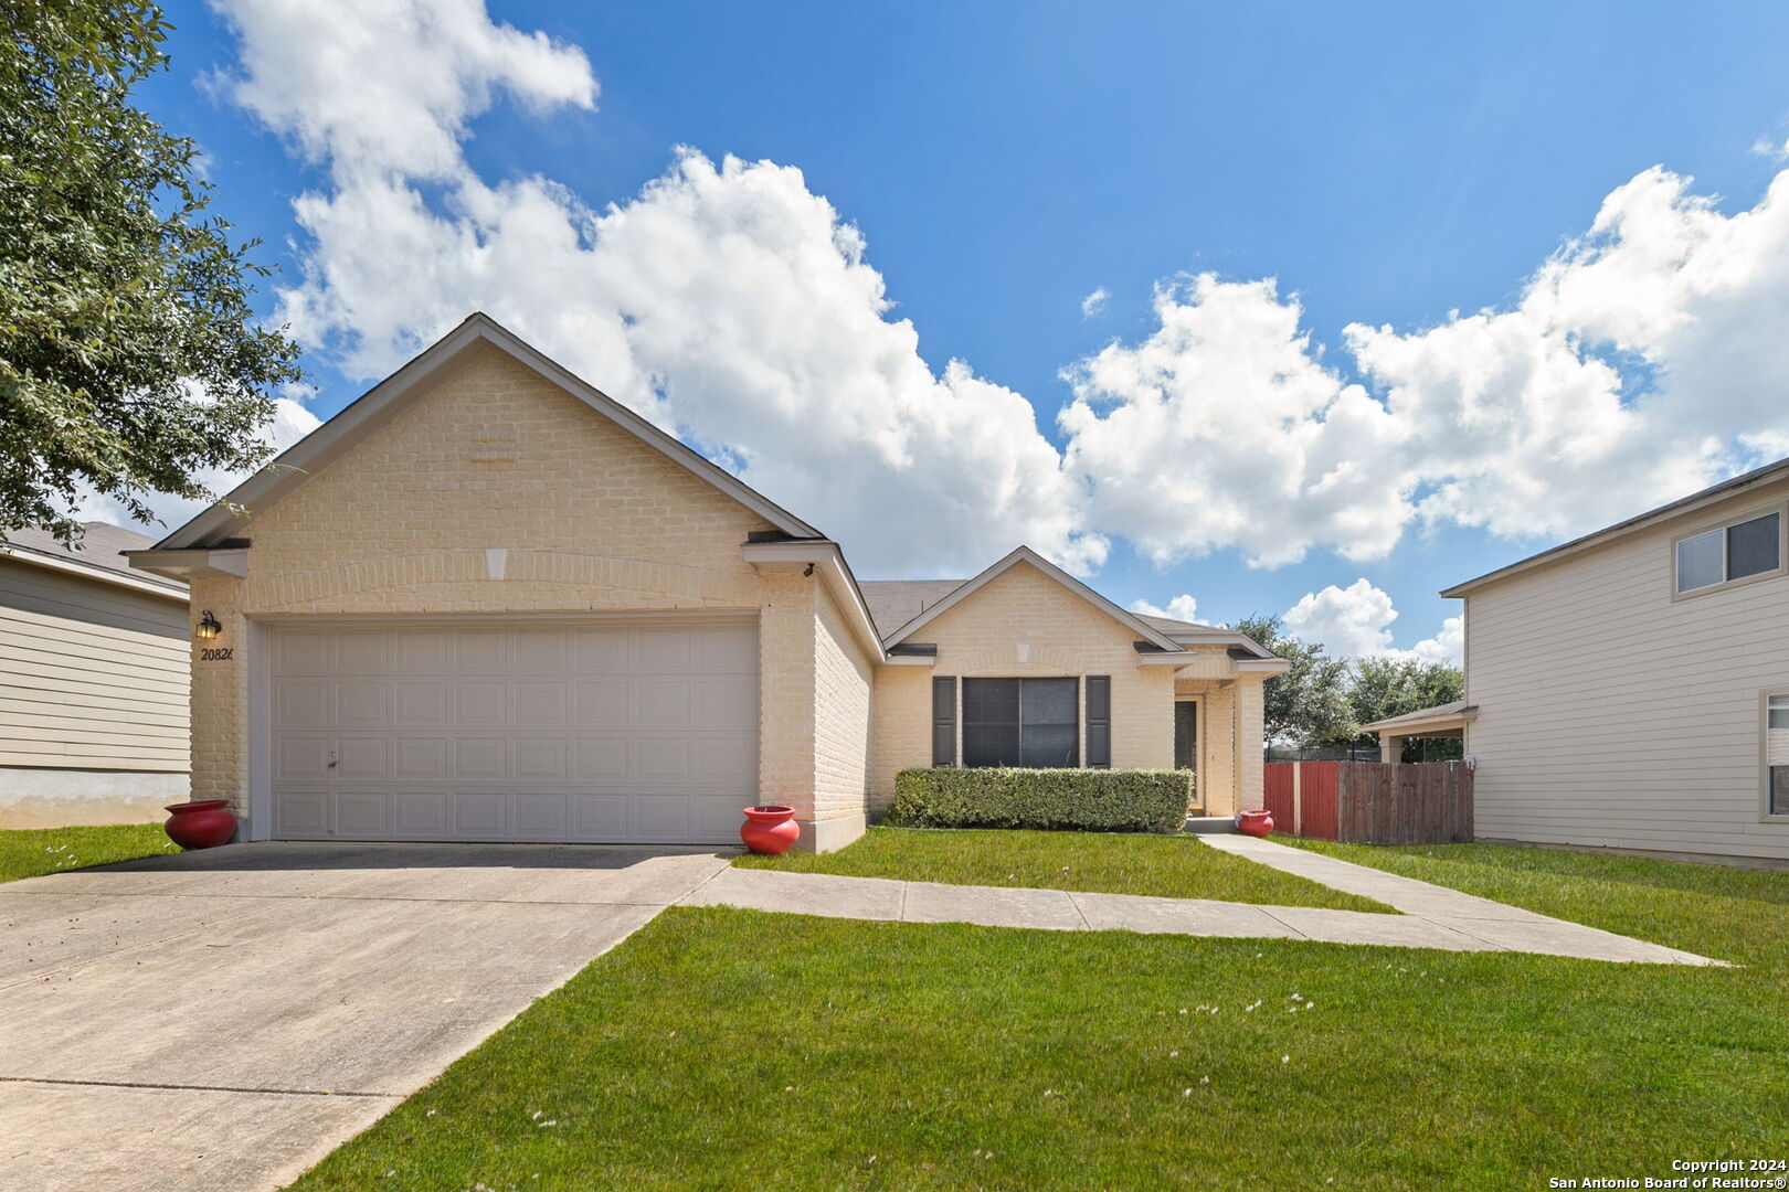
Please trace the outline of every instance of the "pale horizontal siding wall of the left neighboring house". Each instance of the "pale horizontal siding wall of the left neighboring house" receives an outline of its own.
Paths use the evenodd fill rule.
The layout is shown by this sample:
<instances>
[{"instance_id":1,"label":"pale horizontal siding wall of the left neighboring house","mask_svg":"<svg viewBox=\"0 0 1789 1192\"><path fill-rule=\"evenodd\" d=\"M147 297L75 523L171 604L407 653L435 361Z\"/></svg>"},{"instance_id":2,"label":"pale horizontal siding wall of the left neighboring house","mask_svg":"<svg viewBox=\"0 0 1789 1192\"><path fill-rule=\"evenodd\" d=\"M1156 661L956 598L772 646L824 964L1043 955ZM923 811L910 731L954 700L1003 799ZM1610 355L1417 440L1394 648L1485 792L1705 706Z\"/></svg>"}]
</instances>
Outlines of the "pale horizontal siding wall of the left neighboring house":
<instances>
[{"instance_id":1,"label":"pale horizontal siding wall of the left neighboring house","mask_svg":"<svg viewBox=\"0 0 1789 1192\"><path fill-rule=\"evenodd\" d=\"M0 559L0 765L184 772L186 604Z\"/></svg>"}]
</instances>

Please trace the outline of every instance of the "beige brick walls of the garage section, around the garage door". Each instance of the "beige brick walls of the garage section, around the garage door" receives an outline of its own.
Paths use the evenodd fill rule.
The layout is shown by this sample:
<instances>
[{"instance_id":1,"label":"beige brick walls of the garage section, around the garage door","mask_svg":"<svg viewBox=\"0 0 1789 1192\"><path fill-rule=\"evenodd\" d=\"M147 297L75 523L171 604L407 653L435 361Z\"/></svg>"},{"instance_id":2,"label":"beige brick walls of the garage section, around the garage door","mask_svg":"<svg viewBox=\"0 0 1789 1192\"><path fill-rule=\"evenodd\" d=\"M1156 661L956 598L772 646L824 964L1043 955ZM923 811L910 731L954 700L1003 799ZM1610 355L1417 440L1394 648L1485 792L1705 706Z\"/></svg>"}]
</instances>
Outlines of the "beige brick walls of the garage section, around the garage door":
<instances>
[{"instance_id":1,"label":"beige brick walls of the garage section, around the garage door","mask_svg":"<svg viewBox=\"0 0 1789 1192\"><path fill-rule=\"evenodd\" d=\"M801 820L862 817L864 767L848 758L869 663L818 577L741 558L762 529L546 377L476 348L242 525L247 579L193 583L193 617L211 609L234 647L229 661L195 663L193 793L247 810L245 617L757 609L760 797ZM504 552L503 579L488 577L488 550Z\"/></svg>"}]
</instances>

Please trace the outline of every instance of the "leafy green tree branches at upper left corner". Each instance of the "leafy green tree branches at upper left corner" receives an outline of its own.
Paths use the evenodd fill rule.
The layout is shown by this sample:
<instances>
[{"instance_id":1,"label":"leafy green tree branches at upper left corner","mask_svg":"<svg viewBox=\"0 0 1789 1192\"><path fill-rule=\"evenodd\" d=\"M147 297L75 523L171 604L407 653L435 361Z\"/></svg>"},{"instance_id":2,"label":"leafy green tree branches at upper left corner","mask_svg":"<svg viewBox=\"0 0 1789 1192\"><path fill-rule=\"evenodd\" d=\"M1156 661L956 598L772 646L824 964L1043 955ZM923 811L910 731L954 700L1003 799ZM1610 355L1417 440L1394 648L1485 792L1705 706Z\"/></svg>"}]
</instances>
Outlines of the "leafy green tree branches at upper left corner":
<instances>
[{"instance_id":1,"label":"leafy green tree branches at upper left corner","mask_svg":"<svg viewBox=\"0 0 1789 1192\"><path fill-rule=\"evenodd\" d=\"M206 499L195 472L267 457L297 348L254 325L186 138L132 104L168 23L131 0L0 0L0 534L70 540L82 486Z\"/></svg>"}]
</instances>

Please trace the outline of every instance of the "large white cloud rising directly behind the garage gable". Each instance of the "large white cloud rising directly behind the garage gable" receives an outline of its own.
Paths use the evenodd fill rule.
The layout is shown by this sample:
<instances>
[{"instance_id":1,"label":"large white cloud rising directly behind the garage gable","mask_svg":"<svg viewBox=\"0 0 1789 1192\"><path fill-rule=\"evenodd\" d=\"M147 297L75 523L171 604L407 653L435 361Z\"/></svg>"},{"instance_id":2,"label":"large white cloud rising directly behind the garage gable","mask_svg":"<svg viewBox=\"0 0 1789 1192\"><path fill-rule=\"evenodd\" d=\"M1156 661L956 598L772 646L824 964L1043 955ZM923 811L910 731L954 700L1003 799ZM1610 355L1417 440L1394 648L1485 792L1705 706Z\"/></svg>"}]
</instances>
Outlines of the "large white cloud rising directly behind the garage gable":
<instances>
[{"instance_id":1,"label":"large white cloud rising directly behind the garage gable","mask_svg":"<svg viewBox=\"0 0 1789 1192\"><path fill-rule=\"evenodd\" d=\"M583 54L478 4L322 7L227 11L234 98L327 164L295 204L304 282L281 295L301 341L372 379L485 309L864 574L973 572L1018 541L1079 574L1104 561L1030 404L962 361L928 368L864 238L800 170L678 150L601 211L544 177L487 180L467 122L501 93L590 105ZM399 82L370 80L394 57Z\"/></svg>"}]
</instances>

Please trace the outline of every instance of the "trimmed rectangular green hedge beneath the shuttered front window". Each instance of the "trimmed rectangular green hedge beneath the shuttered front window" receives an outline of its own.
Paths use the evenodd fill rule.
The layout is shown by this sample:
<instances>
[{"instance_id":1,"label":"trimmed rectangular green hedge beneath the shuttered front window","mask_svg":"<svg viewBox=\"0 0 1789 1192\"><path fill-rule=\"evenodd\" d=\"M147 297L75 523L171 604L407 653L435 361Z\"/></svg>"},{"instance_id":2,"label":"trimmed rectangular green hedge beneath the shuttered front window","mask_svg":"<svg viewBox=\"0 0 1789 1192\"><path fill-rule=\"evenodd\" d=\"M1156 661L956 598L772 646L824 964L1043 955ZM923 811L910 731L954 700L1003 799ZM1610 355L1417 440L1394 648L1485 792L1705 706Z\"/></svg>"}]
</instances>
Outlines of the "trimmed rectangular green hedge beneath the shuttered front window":
<instances>
[{"instance_id":1,"label":"trimmed rectangular green hedge beneath the shuttered front window","mask_svg":"<svg viewBox=\"0 0 1789 1192\"><path fill-rule=\"evenodd\" d=\"M1172 833L1186 824L1186 770L902 770L889 824Z\"/></svg>"}]
</instances>

